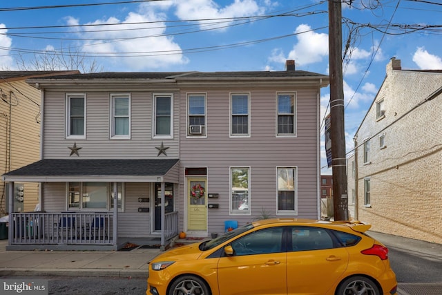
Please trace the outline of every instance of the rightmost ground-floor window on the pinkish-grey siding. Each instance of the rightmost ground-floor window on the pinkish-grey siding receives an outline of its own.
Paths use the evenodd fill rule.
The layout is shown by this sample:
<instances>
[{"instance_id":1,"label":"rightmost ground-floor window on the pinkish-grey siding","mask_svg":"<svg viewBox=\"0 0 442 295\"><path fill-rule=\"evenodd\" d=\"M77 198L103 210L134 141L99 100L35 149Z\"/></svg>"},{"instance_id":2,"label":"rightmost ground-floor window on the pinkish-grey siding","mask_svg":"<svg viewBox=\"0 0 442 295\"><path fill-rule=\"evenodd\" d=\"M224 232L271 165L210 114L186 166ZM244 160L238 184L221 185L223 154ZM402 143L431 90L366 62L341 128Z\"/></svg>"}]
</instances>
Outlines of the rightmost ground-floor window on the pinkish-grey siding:
<instances>
[{"instance_id":1,"label":"rightmost ground-floor window on the pinkish-grey siding","mask_svg":"<svg viewBox=\"0 0 442 295\"><path fill-rule=\"evenodd\" d=\"M296 215L298 213L297 169L277 167L278 207L276 215Z\"/></svg>"}]
</instances>

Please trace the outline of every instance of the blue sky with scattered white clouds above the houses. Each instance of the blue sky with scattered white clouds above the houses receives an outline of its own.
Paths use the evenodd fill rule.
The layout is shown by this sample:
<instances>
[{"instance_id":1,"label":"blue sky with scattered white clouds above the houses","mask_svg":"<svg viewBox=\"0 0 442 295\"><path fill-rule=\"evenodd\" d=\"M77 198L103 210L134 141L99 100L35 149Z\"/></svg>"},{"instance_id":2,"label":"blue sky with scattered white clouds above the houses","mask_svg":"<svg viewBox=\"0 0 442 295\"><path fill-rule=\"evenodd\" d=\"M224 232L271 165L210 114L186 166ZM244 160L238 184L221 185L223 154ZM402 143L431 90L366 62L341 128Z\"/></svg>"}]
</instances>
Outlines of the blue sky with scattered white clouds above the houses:
<instances>
[{"instance_id":1,"label":"blue sky with scattered white clouds above the houses","mask_svg":"<svg viewBox=\"0 0 442 295\"><path fill-rule=\"evenodd\" d=\"M348 0L342 15L351 153L392 57L403 69L442 69L442 1ZM35 61L56 55L82 57L83 71L285 70L294 59L297 70L329 75L328 23L328 1L318 0L2 1L0 70L35 70ZM332 173L328 103L322 88L321 174Z\"/></svg>"}]
</instances>

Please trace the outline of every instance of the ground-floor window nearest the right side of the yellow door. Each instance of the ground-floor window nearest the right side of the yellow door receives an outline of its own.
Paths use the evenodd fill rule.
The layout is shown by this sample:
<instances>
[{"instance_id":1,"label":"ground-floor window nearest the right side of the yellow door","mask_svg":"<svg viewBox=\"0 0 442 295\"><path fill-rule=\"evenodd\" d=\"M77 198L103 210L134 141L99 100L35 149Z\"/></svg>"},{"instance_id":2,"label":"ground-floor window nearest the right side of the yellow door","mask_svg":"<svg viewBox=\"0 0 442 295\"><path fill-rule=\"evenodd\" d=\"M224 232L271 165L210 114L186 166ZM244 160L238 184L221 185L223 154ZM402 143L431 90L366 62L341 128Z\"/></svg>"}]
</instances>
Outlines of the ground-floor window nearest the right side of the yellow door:
<instances>
[{"instance_id":1,"label":"ground-floor window nearest the right side of the yellow door","mask_svg":"<svg viewBox=\"0 0 442 295\"><path fill-rule=\"evenodd\" d=\"M230 213L250 215L250 167L230 168Z\"/></svg>"}]
</instances>

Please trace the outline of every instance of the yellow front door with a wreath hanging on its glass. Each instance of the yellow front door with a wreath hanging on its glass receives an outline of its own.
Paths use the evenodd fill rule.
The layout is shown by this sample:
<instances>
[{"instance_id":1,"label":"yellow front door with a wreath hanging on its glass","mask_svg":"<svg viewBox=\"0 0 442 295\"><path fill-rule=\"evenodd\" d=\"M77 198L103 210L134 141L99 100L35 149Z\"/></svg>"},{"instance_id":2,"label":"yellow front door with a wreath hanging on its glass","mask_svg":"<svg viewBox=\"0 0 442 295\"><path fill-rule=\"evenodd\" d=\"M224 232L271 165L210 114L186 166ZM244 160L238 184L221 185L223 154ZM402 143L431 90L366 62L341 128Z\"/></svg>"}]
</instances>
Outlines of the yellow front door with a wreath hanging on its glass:
<instances>
[{"instance_id":1,"label":"yellow front door with a wreath hanging on its glass","mask_svg":"<svg viewBox=\"0 0 442 295\"><path fill-rule=\"evenodd\" d=\"M207 230L206 178L187 179L187 230Z\"/></svg>"}]
</instances>

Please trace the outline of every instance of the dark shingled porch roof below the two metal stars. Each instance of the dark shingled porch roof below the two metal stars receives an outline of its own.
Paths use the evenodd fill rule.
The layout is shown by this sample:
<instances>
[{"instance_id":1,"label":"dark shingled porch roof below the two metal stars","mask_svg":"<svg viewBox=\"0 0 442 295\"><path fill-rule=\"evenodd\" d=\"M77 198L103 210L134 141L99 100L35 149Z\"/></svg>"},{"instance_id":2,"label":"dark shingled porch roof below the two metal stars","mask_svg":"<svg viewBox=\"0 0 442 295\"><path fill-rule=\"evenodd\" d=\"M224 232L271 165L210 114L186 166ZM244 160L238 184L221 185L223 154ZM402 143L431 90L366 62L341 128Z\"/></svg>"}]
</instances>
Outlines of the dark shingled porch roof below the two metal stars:
<instances>
[{"instance_id":1,"label":"dark shingled porch roof below the two metal stars","mask_svg":"<svg viewBox=\"0 0 442 295\"><path fill-rule=\"evenodd\" d=\"M165 175L178 159L64 160L44 159L3 175L7 176L157 176Z\"/></svg>"}]
</instances>

